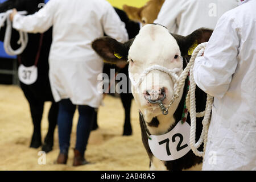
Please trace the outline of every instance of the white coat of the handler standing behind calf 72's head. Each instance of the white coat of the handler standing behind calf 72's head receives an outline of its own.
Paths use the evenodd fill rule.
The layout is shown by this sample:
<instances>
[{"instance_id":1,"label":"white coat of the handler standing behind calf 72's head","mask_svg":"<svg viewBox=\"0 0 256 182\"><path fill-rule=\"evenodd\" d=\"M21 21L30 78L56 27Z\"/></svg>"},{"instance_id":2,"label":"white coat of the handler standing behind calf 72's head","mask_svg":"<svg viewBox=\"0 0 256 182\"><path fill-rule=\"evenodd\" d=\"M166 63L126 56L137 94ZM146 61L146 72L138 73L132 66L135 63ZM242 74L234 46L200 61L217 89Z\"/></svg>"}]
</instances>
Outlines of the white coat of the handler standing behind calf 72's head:
<instances>
[{"instance_id":1,"label":"white coat of the handler standing behind calf 72's head","mask_svg":"<svg viewBox=\"0 0 256 182\"><path fill-rule=\"evenodd\" d=\"M166 0L154 23L187 36L201 27L214 29L220 16L234 7L237 0Z\"/></svg>"}]
</instances>

